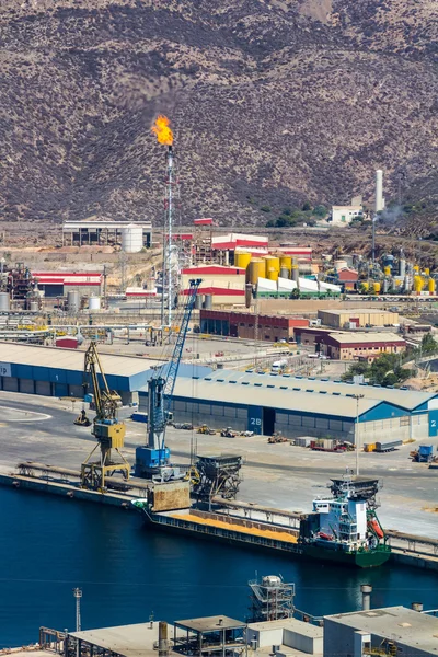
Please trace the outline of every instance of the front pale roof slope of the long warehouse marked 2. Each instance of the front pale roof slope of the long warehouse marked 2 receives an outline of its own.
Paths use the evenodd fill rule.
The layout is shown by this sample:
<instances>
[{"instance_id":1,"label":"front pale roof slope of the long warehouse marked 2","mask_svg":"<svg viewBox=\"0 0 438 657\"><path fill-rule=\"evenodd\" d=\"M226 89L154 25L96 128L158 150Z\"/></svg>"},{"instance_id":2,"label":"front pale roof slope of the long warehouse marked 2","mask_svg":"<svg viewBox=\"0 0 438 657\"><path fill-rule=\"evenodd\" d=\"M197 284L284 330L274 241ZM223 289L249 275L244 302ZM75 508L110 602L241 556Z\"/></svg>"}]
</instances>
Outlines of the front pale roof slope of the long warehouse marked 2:
<instances>
[{"instance_id":1,"label":"front pale roof slope of the long warehouse marked 2","mask_svg":"<svg viewBox=\"0 0 438 657\"><path fill-rule=\"evenodd\" d=\"M238 374L239 372L234 372ZM234 378L235 380L235 378ZM269 381L270 383L270 381ZM307 387L310 390L312 385ZM304 391L295 391L292 387L287 390L267 388L260 382L253 385L230 384L229 381L219 379L177 380L175 396L193 399L194 401L223 402L226 404L242 404L244 406L269 406L279 411L296 411L297 413L311 413L336 417L356 417L357 403L353 397L328 394L309 394ZM379 400L359 400L359 415L381 404Z\"/></svg>"}]
</instances>

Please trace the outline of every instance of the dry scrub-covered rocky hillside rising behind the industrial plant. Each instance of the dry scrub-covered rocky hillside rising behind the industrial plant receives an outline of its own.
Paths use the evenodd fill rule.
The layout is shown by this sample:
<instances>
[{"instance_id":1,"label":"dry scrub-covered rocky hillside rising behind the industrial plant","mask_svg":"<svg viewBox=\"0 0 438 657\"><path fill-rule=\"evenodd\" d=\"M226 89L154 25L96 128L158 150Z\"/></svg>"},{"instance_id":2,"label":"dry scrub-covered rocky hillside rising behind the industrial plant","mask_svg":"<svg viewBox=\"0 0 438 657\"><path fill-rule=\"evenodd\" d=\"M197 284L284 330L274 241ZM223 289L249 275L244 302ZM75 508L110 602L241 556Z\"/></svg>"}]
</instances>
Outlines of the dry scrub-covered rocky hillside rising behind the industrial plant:
<instances>
[{"instance_id":1,"label":"dry scrub-covered rocky hillside rising behind the industrial plant","mask_svg":"<svg viewBox=\"0 0 438 657\"><path fill-rule=\"evenodd\" d=\"M372 192L438 207L436 0L2 0L0 216L264 223ZM434 210L433 210L434 216Z\"/></svg>"}]
</instances>

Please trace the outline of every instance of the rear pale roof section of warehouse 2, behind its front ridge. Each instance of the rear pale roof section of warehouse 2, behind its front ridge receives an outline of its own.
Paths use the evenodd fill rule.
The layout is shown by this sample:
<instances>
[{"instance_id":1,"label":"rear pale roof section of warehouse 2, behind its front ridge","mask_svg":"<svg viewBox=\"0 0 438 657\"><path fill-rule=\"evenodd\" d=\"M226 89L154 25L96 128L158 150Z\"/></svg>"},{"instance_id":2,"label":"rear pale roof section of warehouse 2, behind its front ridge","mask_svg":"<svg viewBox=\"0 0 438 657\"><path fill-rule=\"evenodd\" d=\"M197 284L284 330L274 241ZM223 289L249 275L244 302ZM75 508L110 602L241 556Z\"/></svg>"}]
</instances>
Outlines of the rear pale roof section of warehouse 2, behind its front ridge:
<instances>
[{"instance_id":1,"label":"rear pale roof section of warehouse 2, behind its front ridge","mask_svg":"<svg viewBox=\"0 0 438 657\"><path fill-rule=\"evenodd\" d=\"M295 390L296 392L300 390L314 390L315 393L325 392L327 395L333 395L337 393L343 397L343 401L339 403L343 403L345 401L346 395L362 394L368 400L388 402L390 404L394 404L395 406L400 406L408 411L412 411L417 406L425 404L429 400L438 396L436 393L418 392L416 390L399 390L394 388L380 388L376 385L355 385L351 383L322 381L321 379L309 379L306 377L291 377L268 373L260 374L256 372L238 372L233 370L217 370L216 372L208 374L207 379L222 379L224 381L233 380L238 383L246 383L250 385L261 383L262 388L264 389L266 389L267 385L275 385L278 390L287 387L288 390ZM235 387L233 387L233 390L235 390ZM334 402L332 396L330 396L328 399L331 399L332 403ZM314 400L314 404L316 407L319 407L320 401L320 396L318 396L318 399Z\"/></svg>"}]
</instances>

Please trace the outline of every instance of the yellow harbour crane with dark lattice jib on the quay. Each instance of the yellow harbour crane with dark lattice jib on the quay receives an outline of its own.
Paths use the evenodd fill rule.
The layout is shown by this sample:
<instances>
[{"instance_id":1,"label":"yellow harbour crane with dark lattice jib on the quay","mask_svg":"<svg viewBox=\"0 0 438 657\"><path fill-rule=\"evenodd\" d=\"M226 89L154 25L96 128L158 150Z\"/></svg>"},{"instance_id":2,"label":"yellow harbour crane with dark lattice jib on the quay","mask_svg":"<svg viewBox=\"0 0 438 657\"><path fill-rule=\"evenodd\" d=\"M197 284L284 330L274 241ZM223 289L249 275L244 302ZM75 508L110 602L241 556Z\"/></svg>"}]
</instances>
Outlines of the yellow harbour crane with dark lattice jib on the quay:
<instances>
[{"instance_id":1,"label":"yellow harbour crane with dark lattice jib on the quay","mask_svg":"<svg viewBox=\"0 0 438 657\"><path fill-rule=\"evenodd\" d=\"M97 369L103 383L102 388L99 383ZM91 433L97 439L97 443L82 463L81 485L83 488L105 491L107 477L115 472L120 472L123 477L128 480L130 466L120 453L126 433L125 424L117 418L122 399L115 390L110 390L95 342L92 342L85 351L83 383L85 392L90 383L93 389L96 411ZM91 461L97 448L101 450L100 459Z\"/></svg>"}]
</instances>

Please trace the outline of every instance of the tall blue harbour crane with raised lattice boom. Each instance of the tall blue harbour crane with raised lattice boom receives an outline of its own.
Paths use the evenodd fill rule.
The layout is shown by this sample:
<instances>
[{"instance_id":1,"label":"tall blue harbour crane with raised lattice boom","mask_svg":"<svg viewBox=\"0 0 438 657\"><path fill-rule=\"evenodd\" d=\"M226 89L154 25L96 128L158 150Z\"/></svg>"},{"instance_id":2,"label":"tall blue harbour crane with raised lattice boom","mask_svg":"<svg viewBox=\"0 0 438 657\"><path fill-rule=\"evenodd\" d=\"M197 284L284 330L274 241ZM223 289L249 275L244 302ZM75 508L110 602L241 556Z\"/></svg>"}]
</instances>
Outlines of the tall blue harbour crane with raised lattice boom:
<instances>
[{"instance_id":1,"label":"tall blue harbour crane with raised lattice boom","mask_svg":"<svg viewBox=\"0 0 438 657\"><path fill-rule=\"evenodd\" d=\"M171 419L173 391L200 283L200 278L189 281L183 319L171 359L148 381L148 442L136 449L135 476L165 481L178 475L177 469L171 464L170 449L165 446L165 429Z\"/></svg>"}]
</instances>

